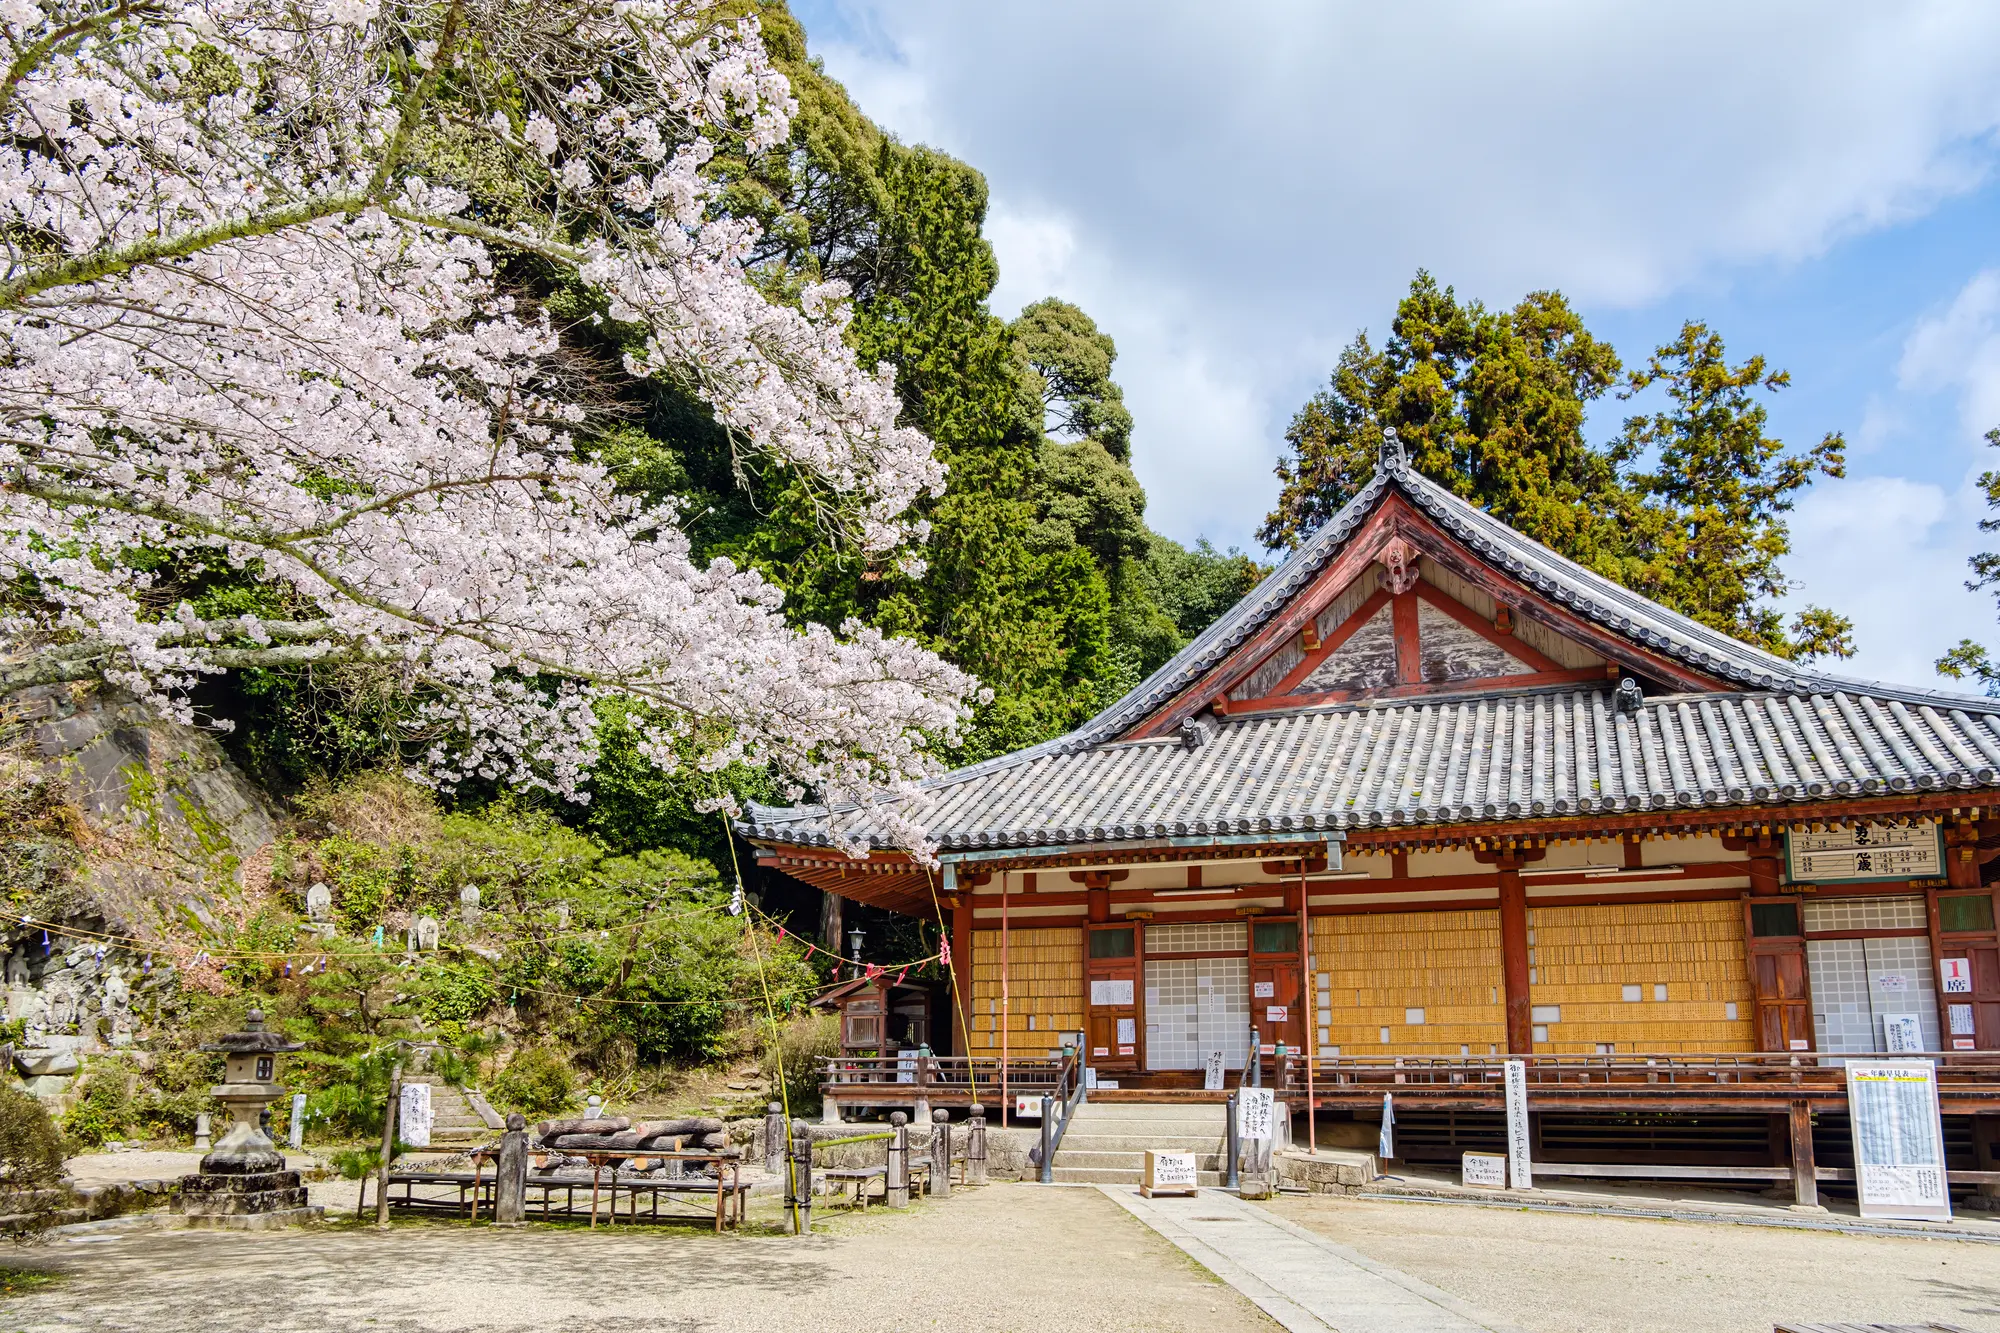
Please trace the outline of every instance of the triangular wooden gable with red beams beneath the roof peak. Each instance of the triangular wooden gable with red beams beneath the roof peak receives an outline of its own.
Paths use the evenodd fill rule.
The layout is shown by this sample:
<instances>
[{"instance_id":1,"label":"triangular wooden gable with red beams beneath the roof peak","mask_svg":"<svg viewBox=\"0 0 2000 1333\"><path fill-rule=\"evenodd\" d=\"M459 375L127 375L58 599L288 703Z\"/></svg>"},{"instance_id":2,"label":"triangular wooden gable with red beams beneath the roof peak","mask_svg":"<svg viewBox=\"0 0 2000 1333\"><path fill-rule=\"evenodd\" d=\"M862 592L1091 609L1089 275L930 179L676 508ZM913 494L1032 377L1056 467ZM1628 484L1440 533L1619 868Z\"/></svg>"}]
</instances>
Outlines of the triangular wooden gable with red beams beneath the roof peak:
<instances>
[{"instance_id":1,"label":"triangular wooden gable with red beams beneath the roof peak","mask_svg":"<svg viewBox=\"0 0 2000 1333\"><path fill-rule=\"evenodd\" d=\"M1234 717L1620 675L1654 691L1728 689L1540 596L1390 494L1256 634L1126 735L1166 735L1204 709Z\"/></svg>"}]
</instances>

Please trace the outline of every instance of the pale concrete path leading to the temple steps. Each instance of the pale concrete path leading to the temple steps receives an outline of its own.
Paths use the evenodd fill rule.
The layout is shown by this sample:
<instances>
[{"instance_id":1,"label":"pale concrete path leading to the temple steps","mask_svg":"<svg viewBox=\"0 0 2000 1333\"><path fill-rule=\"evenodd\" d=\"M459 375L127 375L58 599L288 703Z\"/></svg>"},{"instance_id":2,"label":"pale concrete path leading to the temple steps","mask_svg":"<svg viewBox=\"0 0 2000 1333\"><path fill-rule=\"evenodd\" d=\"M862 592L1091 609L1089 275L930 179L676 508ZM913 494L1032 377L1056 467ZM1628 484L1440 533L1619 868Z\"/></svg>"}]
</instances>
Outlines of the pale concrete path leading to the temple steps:
<instances>
[{"instance_id":1,"label":"pale concrete path leading to the temple steps","mask_svg":"<svg viewBox=\"0 0 2000 1333\"><path fill-rule=\"evenodd\" d=\"M1220 1189L1146 1199L1100 1189L1290 1333L1518 1333L1408 1273Z\"/></svg>"}]
</instances>

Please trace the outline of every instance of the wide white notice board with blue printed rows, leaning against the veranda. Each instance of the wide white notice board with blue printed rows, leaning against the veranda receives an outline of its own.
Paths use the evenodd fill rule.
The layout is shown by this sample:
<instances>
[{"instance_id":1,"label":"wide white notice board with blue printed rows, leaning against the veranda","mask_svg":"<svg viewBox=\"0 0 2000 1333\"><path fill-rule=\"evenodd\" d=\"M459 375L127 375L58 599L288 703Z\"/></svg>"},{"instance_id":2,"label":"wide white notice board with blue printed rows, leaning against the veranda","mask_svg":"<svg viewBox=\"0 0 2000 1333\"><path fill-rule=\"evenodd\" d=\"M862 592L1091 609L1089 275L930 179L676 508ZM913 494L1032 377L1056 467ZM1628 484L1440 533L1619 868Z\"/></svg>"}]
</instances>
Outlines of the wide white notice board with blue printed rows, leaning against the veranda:
<instances>
[{"instance_id":1,"label":"wide white notice board with blue printed rows, leaning against the veranda","mask_svg":"<svg viewBox=\"0 0 2000 1333\"><path fill-rule=\"evenodd\" d=\"M1950 1221L1938 1071L1930 1061L1848 1061L1862 1217Z\"/></svg>"}]
</instances>

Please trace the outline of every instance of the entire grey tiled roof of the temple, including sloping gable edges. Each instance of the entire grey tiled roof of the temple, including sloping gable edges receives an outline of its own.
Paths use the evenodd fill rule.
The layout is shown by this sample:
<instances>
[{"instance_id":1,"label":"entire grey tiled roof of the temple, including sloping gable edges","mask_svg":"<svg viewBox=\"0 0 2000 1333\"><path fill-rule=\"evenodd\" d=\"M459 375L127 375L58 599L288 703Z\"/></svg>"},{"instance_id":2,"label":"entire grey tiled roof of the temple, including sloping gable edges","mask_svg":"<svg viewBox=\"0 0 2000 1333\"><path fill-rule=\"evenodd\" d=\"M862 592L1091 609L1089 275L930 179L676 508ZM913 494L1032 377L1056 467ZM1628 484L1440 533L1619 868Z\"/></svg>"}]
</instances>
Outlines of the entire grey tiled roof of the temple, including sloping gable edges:
<instances>
[{"instance_id":1,"label":"entire grey tiled roof of the temple, including sloping gable edges","mask_svg":"<svg viewBox=\"0 0 2000 1333\"><path fill-rule=\"evenodd\" d=\"M1742 693L1604 689L1352 703L1118 741L1256 634L1390 488L1542 596ZM928 785L942 849L1750 807L2000 785L2000 703L1852 681L1736 642L1514 532L1390 460L1324 528L1138 689L1066 737ZM844 811L860 823L866 811ZM828 845L822 807L752 805L770 843Z\"/></svg>"}]
</instances>

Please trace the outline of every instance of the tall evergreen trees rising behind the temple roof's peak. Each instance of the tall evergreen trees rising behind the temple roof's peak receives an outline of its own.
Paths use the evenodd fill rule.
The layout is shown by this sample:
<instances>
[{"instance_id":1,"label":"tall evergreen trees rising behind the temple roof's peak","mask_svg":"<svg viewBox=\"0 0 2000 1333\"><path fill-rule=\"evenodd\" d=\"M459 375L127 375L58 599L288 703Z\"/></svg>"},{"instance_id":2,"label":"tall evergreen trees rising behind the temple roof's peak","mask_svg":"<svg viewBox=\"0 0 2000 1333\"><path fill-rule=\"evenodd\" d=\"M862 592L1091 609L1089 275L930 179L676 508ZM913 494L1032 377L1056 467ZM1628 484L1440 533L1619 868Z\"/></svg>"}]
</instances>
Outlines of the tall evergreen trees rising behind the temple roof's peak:
<instances>
[{"instance_id":1,"label":"tall evergreen trees rising behind the temple roof's peak","mask_svg":"<svg viewBox=\"0 0 2000 1333\"><path fill-rule=\"evenodd\" d=\"M1790 588L1784 516L1814 476L1842 476L1846 448L1828 434L1794 454L1764 434L1754 394L1788 382L1762 356L1730 366L1698 322L1626 372L1560 292L1490 310L1418 272L1382 348L1358 334L1292 418L1258 534L1296 548L1368 482L1394 426L1418 472L1578 564L1782 656L1850 656L1844 616L1810 606L1786 630L1768 604ZM1598 448L1584 416L1612 388L1668 406Z\"/></svg>"}]
</instances>

